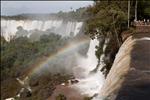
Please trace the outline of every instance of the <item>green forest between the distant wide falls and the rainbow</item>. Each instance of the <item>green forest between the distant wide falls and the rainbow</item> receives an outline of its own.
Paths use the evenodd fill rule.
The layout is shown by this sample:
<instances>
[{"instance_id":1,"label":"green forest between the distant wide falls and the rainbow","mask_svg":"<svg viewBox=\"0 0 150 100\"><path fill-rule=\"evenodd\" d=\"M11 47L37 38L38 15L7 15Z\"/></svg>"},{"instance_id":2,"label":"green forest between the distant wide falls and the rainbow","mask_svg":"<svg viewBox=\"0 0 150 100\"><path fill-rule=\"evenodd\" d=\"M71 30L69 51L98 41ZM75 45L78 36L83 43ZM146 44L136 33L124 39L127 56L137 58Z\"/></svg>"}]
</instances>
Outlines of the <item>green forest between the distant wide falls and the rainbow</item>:
<instances>
[{"instance_id":1,"label":"green forest between the distant wide falls and the rainbow","mask_svg":"<svg viewBox=\"0 0 150 100\"><path fill-rule=\"evenodd\" d=\"M19 37L8 43L1 37L2 79L12 76L11 74L15 75L41 57L57 52L66 43L67 39L56 34L43 35L35 42L26 37Z\"/></svg>"}]
</instances>

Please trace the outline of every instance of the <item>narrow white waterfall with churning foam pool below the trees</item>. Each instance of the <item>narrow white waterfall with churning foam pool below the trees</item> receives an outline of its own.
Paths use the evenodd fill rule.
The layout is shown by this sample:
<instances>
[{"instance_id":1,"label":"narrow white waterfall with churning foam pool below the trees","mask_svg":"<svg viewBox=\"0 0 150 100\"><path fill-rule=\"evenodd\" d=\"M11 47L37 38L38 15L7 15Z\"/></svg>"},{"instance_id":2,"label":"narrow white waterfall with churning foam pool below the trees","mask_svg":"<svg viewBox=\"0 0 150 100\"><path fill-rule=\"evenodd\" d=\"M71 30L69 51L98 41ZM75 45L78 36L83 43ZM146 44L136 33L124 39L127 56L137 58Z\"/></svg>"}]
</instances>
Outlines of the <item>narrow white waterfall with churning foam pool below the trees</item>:
<instances>
[{"instance_id":1,"label":"narrow white waterfall with churning foam pool below the trees","mask_svg":"<svg viewBox=\"0 0 150 100\"><path fill-rule=\"evenodd\" d=\"M88 57L79 57L78 56L78 66L74 69L74 75L79 80L79 83L73 85L72 87L77 89L81 94L93 96L94 94L98 94L100 89L104 83L104 75L100 71L105 64L101 63L99 69L94 73L91 73L98 64L98 59L95 56L95 46L98 45L98 40L94 39L90 42L90 47L88 50ZM103 51L105 51L108 40L105 40L105 44L103 46ZM104 54L101 56L101 62L104 58Z\"/></svg>"}]
</instances>

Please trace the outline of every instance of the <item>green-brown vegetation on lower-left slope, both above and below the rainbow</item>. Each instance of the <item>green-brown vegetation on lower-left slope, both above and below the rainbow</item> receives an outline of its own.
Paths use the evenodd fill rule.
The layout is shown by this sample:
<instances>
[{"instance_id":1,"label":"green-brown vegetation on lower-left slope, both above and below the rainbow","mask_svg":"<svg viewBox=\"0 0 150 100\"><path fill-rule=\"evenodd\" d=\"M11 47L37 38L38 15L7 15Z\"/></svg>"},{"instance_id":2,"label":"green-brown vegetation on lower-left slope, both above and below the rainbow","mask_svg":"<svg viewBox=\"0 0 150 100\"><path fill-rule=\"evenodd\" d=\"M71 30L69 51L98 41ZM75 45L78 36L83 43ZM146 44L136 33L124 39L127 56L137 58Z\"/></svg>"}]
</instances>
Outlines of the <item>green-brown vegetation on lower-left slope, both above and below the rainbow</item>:
<instances>
[{"instance_id":1,"label":"green-brown vegetation on lower-left slope, both above and below the rainbow","mask_svg":"<svg viewBox=\"0 0 150 100\"><path fill-rule=\"evenodd\" d=\"M39 41L30 41L29 38L19 37L10 42L1 37L1 99L15 96L21 89L16 77L28 75L28 69L38 64L42 59L53 55L64 47L69 41L57 34L43 35ZM38 65L35 65L38 66ZM61 63L52 63L51 68L65 66ZM71 74L64 70L56 71L46 69L43 73L30 77L30 86L33 88L32 96L24 92L21 100L47 99L55 86L70 79ZM13 85L12 85L13 84Z\"/></svg>"}]
</instances>

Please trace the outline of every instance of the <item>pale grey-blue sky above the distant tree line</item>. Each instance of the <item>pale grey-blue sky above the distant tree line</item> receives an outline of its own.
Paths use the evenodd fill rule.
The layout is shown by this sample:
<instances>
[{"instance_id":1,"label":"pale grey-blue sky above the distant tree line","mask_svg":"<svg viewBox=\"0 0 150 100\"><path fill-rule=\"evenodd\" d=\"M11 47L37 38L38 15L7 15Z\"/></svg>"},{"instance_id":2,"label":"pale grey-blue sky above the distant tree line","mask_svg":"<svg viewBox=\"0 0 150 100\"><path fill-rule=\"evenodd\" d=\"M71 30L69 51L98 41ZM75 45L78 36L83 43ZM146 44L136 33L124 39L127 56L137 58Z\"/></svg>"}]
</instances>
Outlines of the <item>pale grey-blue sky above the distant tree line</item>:
<instances>
[{"instance_id":1,"label":"pale grey-blue sky above the distant tree line","mask_svg":"<svg viewBox=\"0 0 150 100\"><path fill-rule=\"evenodd\" d=\"M1 15L57 13L92 5L93 1L1 1Z\"/></svg>"}]
</instances>

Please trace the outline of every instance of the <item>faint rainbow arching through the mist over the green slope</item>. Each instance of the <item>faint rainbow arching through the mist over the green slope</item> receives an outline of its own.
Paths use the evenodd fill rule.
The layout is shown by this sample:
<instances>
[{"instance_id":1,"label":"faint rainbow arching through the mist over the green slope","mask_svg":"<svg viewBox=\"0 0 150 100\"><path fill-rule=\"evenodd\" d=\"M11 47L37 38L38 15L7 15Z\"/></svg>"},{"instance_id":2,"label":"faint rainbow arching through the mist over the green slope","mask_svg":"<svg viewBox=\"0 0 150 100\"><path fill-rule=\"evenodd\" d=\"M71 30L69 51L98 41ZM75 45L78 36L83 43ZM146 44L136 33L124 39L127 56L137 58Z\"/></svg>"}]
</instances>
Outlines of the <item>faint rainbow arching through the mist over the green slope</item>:
<instances>
[{"instance_id":1,"label":"faint rainbow arching through the mist over the green slope","mask_svg":"<svg viewBox=\"0 0 150 100\"><path fill-rule=\"evenodd\" d=\"M68 45L65 45L63 48L61 48L58 52L49 55L44 60L38 62L36 66L34 66L29 72L28 76L32 76L33 74L39 72L46 64L48 64L50 61L56 59L57 57L60 57L64 54L67 54L68 52L71 52L72 50L78 48L79 46L82 46L89 42L89 39L80 39L75 42L71 42Z\"/></svg>"}]
</instances>

